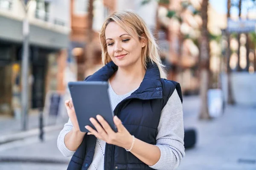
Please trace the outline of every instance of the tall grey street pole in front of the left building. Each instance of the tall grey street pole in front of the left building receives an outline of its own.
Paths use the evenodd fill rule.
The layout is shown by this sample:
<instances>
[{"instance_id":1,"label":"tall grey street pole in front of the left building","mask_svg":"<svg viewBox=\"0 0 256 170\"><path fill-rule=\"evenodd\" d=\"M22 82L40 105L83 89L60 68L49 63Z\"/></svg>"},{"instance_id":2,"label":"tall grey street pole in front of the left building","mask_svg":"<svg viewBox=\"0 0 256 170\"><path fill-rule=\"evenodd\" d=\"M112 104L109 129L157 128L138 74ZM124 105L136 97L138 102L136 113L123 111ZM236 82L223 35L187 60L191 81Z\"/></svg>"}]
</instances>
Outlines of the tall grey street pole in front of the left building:
<instances>
[{"instance_id":1,"label":"tall grey street pole in front of the left building","mask_svg":"<svg viewBox=\"0 0 256 170\"><path fill-rule=\"evenodd\" d=\"M21 76L22 76L22 91L21 91L21 104L22 104L22 130L27 130L28 120L28 69L29 69L29 20L28 20L28 2L29 0L22 1L25 17L23 19L23 45L22 45L22 62L21 62Z\"/></svg>"}]
</instances>

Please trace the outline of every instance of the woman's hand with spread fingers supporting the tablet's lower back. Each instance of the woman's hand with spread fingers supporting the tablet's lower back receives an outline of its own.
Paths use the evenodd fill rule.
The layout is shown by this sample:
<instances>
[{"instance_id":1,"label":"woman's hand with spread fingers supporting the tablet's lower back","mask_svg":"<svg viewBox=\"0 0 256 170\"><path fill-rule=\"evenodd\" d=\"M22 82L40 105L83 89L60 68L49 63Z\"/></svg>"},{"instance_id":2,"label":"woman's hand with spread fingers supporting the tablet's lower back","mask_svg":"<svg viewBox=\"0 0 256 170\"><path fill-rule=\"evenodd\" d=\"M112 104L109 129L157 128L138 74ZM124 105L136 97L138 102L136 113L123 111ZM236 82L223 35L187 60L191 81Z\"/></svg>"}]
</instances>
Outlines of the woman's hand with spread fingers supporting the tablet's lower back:
<instances>
[{"instance_id":1,"label":"woman's hand with spread fingers supporting the tablet's lower back","mask_svg":"<svg viewBox=\"0 0 256 170\"><path fill-rule=\"evenodd\" d=\"M92 122L97 131L87 125L85 128L90 131L88 135L93 134L96 136L96 138L102 139L108 144L114 144L125 149L130 149L133 136L131 136L124 125L122 125L121 120L117 116L113 117L113 121L118 130L117 132L112 130L108 122L106 122L102 116L97 115L96 118L102 126L99 125L99 123L94 118L90 118L90 122Z\"/></svg>"}]
</instances>

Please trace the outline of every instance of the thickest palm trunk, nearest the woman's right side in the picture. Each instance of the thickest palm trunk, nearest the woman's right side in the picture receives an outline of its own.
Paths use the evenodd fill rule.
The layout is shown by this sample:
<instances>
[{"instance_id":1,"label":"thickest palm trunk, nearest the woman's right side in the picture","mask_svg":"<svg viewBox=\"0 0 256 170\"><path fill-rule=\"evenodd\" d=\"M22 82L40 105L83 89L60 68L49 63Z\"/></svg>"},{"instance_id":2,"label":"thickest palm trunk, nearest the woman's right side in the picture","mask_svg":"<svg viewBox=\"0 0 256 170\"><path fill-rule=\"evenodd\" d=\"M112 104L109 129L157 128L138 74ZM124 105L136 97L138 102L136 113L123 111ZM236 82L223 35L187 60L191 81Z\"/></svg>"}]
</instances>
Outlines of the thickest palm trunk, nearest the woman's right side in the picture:
<instances>
[{"instance_id":1,"label":"thickest palm trunk, nearest the woman's right side in the picture","mask_svg":"<svg viewBox=\"0 0 256 170\"><path fill-rule=\"evenodd\" d=\"M200 119L210 119L209 111L208 111L208 96L207 91L209 88L209 38L208 38L208 4L209 0L203 0L201 14L202 14L202 35L200 41L200 70L201 70L201 88L200 88L200 96L201 96L201 111L200 111Z\"/></svg>"}]
</instances>

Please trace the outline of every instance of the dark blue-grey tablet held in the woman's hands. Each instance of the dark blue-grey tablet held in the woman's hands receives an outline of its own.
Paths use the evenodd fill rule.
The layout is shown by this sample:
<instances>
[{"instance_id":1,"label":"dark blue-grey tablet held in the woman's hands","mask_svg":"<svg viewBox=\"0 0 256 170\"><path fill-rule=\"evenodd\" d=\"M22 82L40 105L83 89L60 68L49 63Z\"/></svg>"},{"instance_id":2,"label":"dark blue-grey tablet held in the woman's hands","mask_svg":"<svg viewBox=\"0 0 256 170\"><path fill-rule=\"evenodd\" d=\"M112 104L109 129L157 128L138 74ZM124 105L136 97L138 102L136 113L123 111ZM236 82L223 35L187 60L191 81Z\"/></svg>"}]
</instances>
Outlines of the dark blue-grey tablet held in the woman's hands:
<instances>
[{"instance_id":1,"label":"dark blue-grey tablet held in the woman's hands","mask_svg":"<svg viewBox=\"0 0 256 170\"><path fill-rule=\"evenodd\" d=\"M81 132L89 132L85 128L86 125L95 129L89 119L91 117L96 119L98 114L108 122L115 132L117 131L108 95L108 82L68 82L68 88Z\"/></svg>"}]
</instances>

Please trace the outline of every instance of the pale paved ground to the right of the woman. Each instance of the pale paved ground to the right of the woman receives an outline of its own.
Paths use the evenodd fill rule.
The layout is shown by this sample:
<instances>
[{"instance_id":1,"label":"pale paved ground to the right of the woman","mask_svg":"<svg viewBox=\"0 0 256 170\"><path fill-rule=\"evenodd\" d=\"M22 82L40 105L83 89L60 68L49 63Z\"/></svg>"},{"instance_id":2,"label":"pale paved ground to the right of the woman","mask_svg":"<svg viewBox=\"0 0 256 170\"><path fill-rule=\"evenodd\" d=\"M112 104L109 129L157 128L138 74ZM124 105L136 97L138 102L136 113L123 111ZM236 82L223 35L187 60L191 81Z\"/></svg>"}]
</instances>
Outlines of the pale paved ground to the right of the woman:
<instances>
[{"instance_id":1,"label":"pale paved ground to the right of the woman","mask_svg":"<svg viewBox=\"0 0 256 170\"><path fill-rule=\"evenodd\" d=\"M230 106L223 116L198 120L200 100L184 97L184 126L198 130L198 142L178 170L256 170L256 108Z\"/></svg>"}]
</instances>

